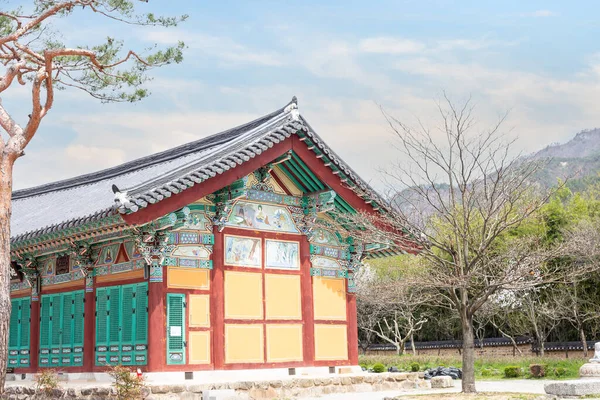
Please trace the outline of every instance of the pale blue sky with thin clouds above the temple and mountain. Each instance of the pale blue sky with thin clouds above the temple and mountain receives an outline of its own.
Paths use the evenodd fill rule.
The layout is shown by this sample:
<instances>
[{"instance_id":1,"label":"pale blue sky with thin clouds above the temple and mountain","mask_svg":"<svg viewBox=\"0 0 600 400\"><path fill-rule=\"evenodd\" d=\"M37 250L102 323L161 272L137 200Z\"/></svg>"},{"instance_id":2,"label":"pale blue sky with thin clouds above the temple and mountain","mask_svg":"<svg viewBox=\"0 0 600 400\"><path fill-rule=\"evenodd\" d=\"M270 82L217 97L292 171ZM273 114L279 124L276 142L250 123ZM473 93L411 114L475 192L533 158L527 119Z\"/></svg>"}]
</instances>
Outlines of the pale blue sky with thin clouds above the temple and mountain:
<instances>
[{"instance_id":1,"label":"pale blue sky with thin clouds above the temple and mountain","mask_svg":"<svg viewBox=\"0 0 600 400\"><path fill-rule=\"evenodd\" d=\"M87 13L56 22L71 45L111 35L132 48L177 40L189 47L183 64L153 73L152 96L141 103L59 92L17 162L15 188L207 136L293 95L313 128L376 187L378 169L400 156L378 104L434 126L442 91L458 101L472 95L481 129L511 110L505 127L524 152L600 126L596 1L150 0L140 5L146 10L190 18L168 30ZM21 113L28 104L21 89L2 100Z\"/></svg>"}]
</instances>

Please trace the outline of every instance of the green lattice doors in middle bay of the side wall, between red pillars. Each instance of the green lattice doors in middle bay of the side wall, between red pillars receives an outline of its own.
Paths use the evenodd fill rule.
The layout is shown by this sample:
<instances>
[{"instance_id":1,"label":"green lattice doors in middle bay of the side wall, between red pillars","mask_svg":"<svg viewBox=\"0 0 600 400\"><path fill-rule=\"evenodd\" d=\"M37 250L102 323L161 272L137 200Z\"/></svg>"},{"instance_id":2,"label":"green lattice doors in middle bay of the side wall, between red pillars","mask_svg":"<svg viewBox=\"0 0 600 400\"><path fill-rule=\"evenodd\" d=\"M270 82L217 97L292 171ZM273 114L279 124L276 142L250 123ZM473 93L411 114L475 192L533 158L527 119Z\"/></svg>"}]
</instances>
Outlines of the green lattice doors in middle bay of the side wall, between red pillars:
<instances>
[{"instance_id":1,"label":"green lattice doors in middle bay of the side wall, between red pillars","mask_svg":"<svg viewBox=\"0 0 600 400\"><path fill-rule=\"evenodd\" d=\"M84 310L83 290L41 296L40 367L83 365Z\"/></svg>"}]
</instances>

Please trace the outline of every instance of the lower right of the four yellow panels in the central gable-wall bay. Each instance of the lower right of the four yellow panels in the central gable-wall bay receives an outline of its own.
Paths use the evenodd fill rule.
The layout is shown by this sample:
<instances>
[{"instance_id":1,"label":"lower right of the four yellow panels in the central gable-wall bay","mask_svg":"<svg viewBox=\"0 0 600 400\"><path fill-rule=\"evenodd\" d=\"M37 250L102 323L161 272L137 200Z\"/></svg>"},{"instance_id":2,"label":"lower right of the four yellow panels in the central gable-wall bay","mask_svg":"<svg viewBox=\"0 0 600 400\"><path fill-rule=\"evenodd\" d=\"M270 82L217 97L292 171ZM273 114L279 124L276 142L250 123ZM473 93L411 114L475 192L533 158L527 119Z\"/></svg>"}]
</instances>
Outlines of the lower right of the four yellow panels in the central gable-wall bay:
<instances>
[{"instance_id":1,"label":"lower right of the four yellow panels in the central gable-wall bay","mask_svg":"<svg viewBox=\"0 0 600 400\"><path fill-rule=\"evenodd\" d=\"M267 325L267 362L302 361L302 325Z\"/></svg>"}]
</instances>

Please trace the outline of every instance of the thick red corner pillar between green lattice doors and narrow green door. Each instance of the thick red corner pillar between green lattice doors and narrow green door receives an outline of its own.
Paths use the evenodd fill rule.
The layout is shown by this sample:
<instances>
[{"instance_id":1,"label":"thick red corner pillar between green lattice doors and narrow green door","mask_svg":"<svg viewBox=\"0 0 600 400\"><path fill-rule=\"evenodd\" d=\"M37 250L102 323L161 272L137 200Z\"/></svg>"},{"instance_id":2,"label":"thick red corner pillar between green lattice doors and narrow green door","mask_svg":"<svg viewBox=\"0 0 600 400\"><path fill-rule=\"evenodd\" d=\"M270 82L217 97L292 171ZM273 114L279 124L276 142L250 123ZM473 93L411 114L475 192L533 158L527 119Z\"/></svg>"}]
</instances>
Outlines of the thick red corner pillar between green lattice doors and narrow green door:
<instances>
[{"instance_id":1,"label":"thick red corner pillar between green lattice doors and narrow green door","mask_svg":"<svg viewBox=\"0 0 600 400\"><path fill-rule=\"evenodd\" d=\"M163 280L166 279L166 267ZM164 282L148 282L148 371L163 371L167 365L167 325Z\"/></svg>"}]
</instances>

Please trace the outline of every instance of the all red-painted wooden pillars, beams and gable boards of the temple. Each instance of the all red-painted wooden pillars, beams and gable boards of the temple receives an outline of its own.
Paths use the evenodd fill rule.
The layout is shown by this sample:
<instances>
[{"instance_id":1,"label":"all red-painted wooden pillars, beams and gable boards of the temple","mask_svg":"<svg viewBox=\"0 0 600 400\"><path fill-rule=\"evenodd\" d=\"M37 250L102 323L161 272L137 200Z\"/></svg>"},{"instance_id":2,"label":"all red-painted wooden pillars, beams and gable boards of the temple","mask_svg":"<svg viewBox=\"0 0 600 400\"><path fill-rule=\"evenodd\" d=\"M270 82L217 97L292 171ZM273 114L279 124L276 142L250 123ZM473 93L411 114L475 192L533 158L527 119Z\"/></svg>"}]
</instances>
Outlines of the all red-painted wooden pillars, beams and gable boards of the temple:
<instances>
[{"instance_id":1,"label":"all red-painted wooden pillars, beams and gable boards of the temple","mask_svg":"<svg viewBox=\"0 0 600 400\"><path fill-rule=\"evenodd\" d=\"M356 210L376 212L370 204L367 204L360 198L352 189L344 185L339 177L333 171L326 167L323 161L309 150L306 144L301 141L296 135L275 144L267 149L259 156L252 158L242 165L225 171L217 177L207 180L202 184L195 185L178 194L174 194L169 198L164 199L156 204L150 204L136 213L123 215L123 219L129 225L140 225L159 217L162 217L170 212L180 209L188 204L197 201L211 194L236 180L254 172L258 168L274 161L278 157L284 155L289 150L293 150L311 169L311 171L327 186L334 190L337 195L341 196L350 206ZM237 234L241 236L260 237L264 239L279 239L279 240L294 240L300 243L300 271L288 271L277 269L265 269L263 251L263 299L264 299L264 274L291 274L301 276L301 310L303 328L303 358L302 362L281 362L281 363L252 363L252 364L226 364L224 360L224 271L225 270L240 270L247 271L244 267L226 266L224 263L224 234ZM358 328L356 318L356 299L353 294L346 295L346 312L347 319L343 321L319 321L319 323L331 324L347 324L348 329L348 360L339 361L315 361L314 347L314 310L313 310L313 293L312 293L312 277L310 275L310 245L305 235L253 231L239 228L225 228L223 232L218 232L217 227L214 228L214 246L213 246L213 270L210 272L210 289L209 290L194 290L194 289L175 289L167 286L167 271L163 267L163 282L148 284L148 365L141 367L144 371L189 371L189 370L230 370L240 368L283 368L283 367L304 367L304 366L341 366L341 365L357 365L358 364ZM255 269L252 269L256 272ZM94 278L94 281L96 279ZM143 278L128 279L126 283L136 283L145 281ZM95 282L94 282L95 283ZM98 287L112 286L115 282L104 282L98 284ZM119 282L123 284L123 282ZM81 289L85 285L81 286ZM55 293L62 291L73 290L75 287L61 287L53 290L51 287L42 289L41 294ZM79 286L77 286L79 288ZM85 295L85 342L84 342L84 365L83 367L66 367L65 372L100 372L105 371L105 367L96 367L94 365L94 347L95 347L95 288L94 292ZM210 328L193 328L192 331L209 330L211 332L211 363L202 364L185 364L185 365L167 365L166 364L166 295L167 293L182 293L187 296L190 294L208 294L210 298ZM264 304L263 304L264 307ZM263 309L264 312L264 309ZM29 368L19 368L19 372L36 372L37 371L37 349L39 348L39 302L32 302L31 310L32 323L31 327L31 361ZM246 321L254 323L291 323L285 321ZM299 321L294 321L298 323ZM189 325L189 318L186 318L186 325ZM189 327L186 326L186 342L189 343ZM266 334L264 335L266 337ZM266 339L265 339L266 340ZM265 352L267 351L264 346ZM34 353L35 352L35 353ZM189 350L186 349L189 353ZM186 354L186 360L189 362L189 354Z\"/></svg>"}]
</instances>

